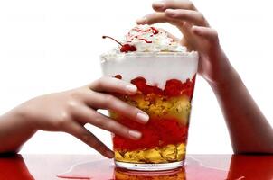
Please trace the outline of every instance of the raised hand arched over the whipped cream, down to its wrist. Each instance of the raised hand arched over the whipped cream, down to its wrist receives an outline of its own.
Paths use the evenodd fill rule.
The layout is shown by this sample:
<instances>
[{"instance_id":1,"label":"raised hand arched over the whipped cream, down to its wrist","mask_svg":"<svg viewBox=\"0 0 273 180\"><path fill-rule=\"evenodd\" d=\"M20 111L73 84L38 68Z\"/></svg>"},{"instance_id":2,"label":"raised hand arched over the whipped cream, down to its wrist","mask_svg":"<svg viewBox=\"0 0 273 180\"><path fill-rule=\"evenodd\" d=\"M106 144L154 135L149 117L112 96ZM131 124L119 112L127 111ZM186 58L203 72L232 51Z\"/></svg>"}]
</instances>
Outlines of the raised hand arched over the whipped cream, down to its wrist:
<instances>
[{"instance_id":1,"label":"raised hand arched over the whipped cream, down to its wrist","mask_svg":"<svg viewBox=\"0 0 273 180\"><path fill-rule=\"evenodd\" d=\"M153 4L155 13L136 21L138 24L171 23L182 33L180 42L190 50L199 52L198 72L209 83L220 84L230 65L221 50L217 31L213 30L192 2L165 0ZM221 76L222 75L222 76Z\"/></svg>"}]
</instances>

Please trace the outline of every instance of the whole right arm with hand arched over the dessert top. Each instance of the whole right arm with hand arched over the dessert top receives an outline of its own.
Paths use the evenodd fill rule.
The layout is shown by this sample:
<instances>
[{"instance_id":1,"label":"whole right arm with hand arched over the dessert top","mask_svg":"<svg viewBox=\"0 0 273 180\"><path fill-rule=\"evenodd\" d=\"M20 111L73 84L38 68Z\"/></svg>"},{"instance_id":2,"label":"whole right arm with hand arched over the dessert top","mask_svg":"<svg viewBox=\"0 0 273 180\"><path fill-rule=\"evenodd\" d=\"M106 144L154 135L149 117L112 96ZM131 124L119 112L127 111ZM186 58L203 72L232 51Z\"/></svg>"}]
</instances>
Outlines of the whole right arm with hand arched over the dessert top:
<instances>
[{"instance_id":1,"label":"whole right arm with hand arched over the dessert top","mask_svg":"<svg viewBox=\"0 0 273 180\"><path fill-rule=\"evenodd\" d=\"M217 97L234 153L273 153L270 124L231 66L221 49L217 31L210 27L203 14L188 0L155 2L153 9L154 13L136 23L171 23L184 35L181 44L199 52L198 74L211 85Z\"/></svg>"}]
</instances>

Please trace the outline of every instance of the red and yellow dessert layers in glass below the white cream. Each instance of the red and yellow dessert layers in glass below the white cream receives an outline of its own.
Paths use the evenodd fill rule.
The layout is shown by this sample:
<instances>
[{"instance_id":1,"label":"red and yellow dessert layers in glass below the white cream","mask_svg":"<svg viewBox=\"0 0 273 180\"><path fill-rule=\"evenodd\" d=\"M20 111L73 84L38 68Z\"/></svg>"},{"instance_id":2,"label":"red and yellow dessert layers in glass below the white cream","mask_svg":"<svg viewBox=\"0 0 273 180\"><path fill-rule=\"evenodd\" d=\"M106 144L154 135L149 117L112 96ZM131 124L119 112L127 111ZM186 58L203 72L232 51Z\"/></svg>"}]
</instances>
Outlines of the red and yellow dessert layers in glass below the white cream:
<instances>
[{"instance_id":1,"label":"red and yellow dessert layers in glass below the white cream","mask_svg":"<svg viewBox=\"0 0 273 180\"><path fill-rule=\"evenodd\" d=\"M121 75L115 77L122 79ZM130 81L137 86L135 95L116 94L121 100L136 106L150 117L146 125L143 125L121 114L110 113L114 120L142 132L139 140L118 135L113 137L116 161L168 163L184 160L194 80L195 76L184 83L169 79L162 90L146 84L144 77L136 77Z\"/></svg>"}]
</instances>

